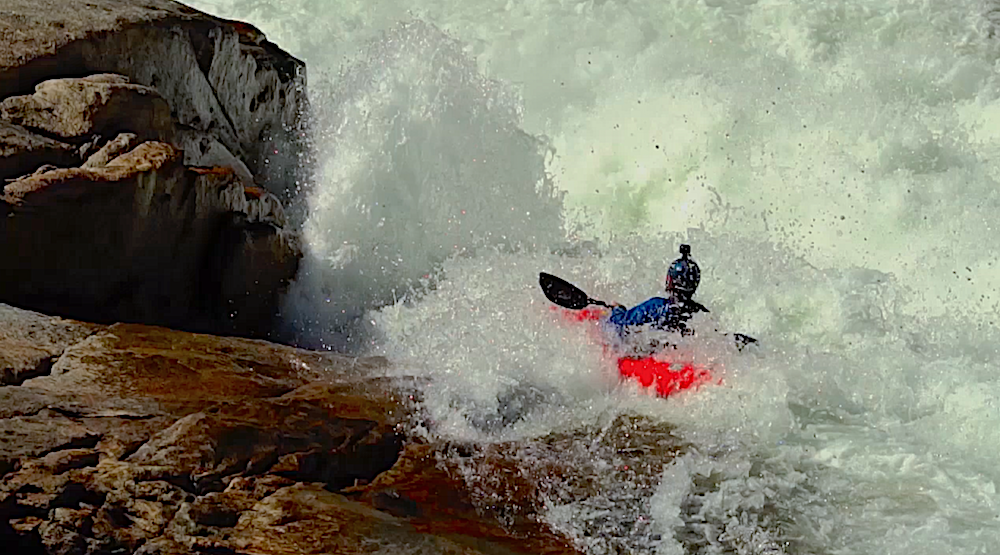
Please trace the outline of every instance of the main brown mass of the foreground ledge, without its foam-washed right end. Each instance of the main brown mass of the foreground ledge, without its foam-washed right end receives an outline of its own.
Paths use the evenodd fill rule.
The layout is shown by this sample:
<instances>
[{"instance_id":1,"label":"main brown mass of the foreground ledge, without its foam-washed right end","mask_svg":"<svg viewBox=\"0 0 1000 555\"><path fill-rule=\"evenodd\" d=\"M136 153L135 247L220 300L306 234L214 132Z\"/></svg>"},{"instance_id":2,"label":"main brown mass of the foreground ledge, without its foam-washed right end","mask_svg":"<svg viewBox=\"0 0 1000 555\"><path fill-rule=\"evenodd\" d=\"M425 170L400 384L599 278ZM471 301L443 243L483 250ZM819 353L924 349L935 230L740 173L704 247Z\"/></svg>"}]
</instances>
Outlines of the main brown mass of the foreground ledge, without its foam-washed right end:
<instances>
[{"instance_id":1,"label":"main brown mass of the foreground ledge, without its foam-washed right end","mask_svg":"<svg viewBox=\"0 0 1000 555\"><path fill-rule=\"evenodd\" d=\"M43 319L6 316L9 329ZM135 324L87 331L49 375L0 388L5 545L191 552L197 531L233 528L283 487L371 480L402 448L405 384L370 377L380 360ZM21 341L11 335L0 348Z\"/></svg>"}]
</instances>

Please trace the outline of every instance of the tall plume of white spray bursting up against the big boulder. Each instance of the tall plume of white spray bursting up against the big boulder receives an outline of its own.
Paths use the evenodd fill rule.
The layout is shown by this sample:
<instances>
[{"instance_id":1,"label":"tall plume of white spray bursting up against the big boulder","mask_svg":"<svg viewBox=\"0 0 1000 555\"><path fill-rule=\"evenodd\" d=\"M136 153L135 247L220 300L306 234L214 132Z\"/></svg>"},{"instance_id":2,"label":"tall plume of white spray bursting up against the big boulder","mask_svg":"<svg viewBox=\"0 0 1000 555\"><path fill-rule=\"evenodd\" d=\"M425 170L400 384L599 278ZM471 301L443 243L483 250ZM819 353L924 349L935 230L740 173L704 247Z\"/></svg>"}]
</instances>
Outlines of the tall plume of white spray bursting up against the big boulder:
<instances>
[{"instance_id":1,"label":"tall plume of white spray bursting up against the big boulder","mask_svg":"<svg viewBox=\"0 0 1000 555\"><path fill-rule=\"evenodd\" d=\"M286 311L297 343L363 349L365 311L432 285L446 258L563 234L519 98L434 26L386 31L312 90L320 162Z\"/></svg>"}]
</instances>

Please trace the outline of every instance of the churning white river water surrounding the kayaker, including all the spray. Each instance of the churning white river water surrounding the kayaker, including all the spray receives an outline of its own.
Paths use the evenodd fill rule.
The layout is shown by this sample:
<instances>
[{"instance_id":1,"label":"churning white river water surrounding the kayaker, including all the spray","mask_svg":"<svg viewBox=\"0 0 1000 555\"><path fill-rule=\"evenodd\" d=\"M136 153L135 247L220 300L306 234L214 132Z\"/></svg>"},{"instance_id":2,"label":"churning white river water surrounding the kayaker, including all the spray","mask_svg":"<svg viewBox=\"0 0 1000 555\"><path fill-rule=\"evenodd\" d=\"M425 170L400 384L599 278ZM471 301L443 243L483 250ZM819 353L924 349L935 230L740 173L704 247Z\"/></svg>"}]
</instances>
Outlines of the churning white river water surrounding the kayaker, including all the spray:
<instances>
[{"instance_id":1,"label":"churning white river water surrounding the kayaker, including all the spray","mask_svg":"<svg viewBox=\"0 0 1000 555\"><path fill-rule=\"evenodd\" d=\"M300 342L432 378L441 436L638 413L696 446L641 507L550 507L589 552L1000 553L992 3L195 5L309 64ZM686 341L724 384L663 400L537 276L631 305L682 241L699 327L761 344Z\"/></svg>"}]
</instances>

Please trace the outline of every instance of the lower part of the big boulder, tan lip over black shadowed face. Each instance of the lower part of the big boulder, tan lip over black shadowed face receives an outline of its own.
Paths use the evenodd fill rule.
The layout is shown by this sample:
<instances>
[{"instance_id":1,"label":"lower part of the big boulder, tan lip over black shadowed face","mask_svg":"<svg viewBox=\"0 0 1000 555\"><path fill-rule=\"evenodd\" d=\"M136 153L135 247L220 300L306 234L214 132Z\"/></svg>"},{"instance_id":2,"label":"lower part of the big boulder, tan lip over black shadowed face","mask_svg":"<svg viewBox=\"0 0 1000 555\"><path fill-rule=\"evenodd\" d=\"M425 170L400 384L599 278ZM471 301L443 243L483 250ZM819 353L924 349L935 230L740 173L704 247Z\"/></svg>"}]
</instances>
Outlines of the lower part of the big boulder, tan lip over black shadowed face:
<instances>
[{"instance_id":1,"label":"lower part of the big boulder, tan lip over black shadowed face","mask_svg":"<svg viewBox=\"0 0 1000 555\"><path fill-rule=\"evenodd\" d=\"M0 201L0 298L52 314L263 335L297 268L280 203L167 143L23 177Z\"/></svg>"}]
</instances>

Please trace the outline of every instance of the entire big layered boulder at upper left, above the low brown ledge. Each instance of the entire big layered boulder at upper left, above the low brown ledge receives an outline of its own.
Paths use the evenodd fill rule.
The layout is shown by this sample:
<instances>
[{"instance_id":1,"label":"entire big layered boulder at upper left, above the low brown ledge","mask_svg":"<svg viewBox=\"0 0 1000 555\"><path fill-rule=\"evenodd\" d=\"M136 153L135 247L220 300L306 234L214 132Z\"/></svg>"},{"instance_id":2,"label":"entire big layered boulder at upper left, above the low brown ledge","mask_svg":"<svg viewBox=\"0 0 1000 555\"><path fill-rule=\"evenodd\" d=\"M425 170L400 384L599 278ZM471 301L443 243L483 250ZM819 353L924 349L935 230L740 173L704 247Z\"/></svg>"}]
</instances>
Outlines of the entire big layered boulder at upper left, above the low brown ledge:
<instances>
[{"instance_id":1,"label":"entire big layered boulder at upper left, above the low brown ledge","mask_svg":"<svg viewBox=\"0 0 1000 555\"><path fill-rule=\"evenodd\" d=\"M300 246L305 72L166 0L0 11L0 301L269 336Z\"/></svg>"}]
</instances>

